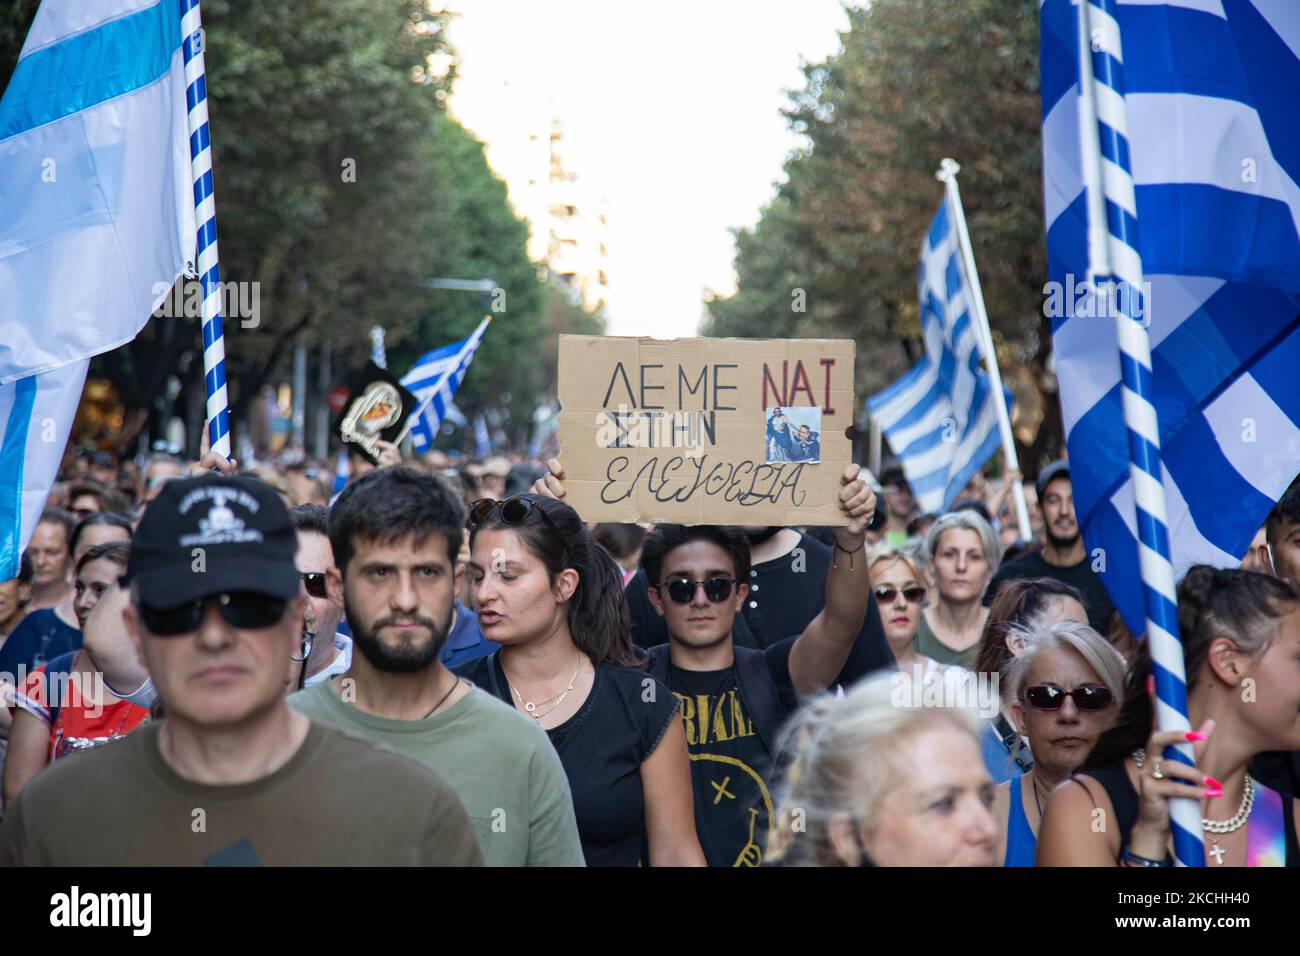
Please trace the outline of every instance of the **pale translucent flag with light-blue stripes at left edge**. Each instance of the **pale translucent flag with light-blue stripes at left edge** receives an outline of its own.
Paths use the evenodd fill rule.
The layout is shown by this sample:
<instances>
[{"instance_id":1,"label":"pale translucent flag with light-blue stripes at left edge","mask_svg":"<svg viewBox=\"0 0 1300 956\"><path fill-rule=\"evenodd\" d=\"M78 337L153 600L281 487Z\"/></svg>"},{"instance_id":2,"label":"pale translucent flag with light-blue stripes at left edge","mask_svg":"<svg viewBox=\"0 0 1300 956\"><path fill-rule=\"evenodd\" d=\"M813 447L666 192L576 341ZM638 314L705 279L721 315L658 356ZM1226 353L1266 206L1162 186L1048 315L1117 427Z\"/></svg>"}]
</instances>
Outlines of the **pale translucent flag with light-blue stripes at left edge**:
<instances>
[{"instance_id":1,"label":"pale translucent flag with light-blue stripes at left edge","mask_svg":"<svg viewBox=\"0 0 1300 956\"><path fill-rule=\"evenodd\" d=\"M0 580L16 574L88 359L194 258L177 0L44 0L0 98Z\"/></svg>"}]
</instances>

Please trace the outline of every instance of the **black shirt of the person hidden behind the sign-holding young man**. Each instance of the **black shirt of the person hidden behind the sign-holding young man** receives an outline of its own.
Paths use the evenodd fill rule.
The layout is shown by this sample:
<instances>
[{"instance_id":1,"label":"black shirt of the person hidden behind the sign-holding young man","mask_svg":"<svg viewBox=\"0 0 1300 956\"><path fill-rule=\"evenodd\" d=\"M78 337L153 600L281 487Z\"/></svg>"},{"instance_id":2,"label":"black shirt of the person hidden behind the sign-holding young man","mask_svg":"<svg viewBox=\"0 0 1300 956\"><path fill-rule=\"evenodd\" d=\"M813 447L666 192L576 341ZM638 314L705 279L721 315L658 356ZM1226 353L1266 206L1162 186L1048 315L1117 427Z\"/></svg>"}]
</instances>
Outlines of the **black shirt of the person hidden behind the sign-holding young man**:
<instances>
[{"instance_id":1,"label":"black shirt of the person hidden behind the sign-holding young man","mask_svg":"<svg viewBox=\"0 0 1300 956\"><path fill-rule=\"evenodd\" d=\"M789 554L754 564L749 572L749 596L741 607L746 627L732 628L732 640L741 646L762 649L792 633L803 633L803 628L811 624L812 618L826 606L826 576L831 571L831 548L811 535L803 535L798 546ZM842 554L840 559L849 561ZM853 555L853 561L862 571L863 587L867 587L864 553L858 551ZM628 610L632 611L632 640L642 648L668 643L668 627L650 604L649 591L645 571L637 571L623 592ZM849 684L853 680L850 674L870 674L893 666L893 653L885 643L880 613L876 610L876 598L872 594L862 631L858 632L858 639L836 683Z\"/></svg>"}]
</instances>

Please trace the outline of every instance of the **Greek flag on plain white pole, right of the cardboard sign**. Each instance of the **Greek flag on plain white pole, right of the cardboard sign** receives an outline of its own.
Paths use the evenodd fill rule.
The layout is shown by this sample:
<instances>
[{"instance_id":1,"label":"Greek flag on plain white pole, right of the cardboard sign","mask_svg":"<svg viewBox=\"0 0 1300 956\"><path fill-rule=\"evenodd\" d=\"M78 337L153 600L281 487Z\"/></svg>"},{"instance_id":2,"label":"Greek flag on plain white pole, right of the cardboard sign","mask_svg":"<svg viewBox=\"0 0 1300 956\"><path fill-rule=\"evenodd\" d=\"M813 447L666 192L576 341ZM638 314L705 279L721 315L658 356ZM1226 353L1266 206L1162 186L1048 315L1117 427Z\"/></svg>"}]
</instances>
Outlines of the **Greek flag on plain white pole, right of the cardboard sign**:
<instances>
[{"instance_id":1,"label":"Greek flag on plain white pole, right of the cardboard sign","mask_svg":"<svg viewBox=\"0 0 1300 956\"><path fill-rule=\"evenodd\" d=\"M993 386L979 364L980 334L952 216L945 199L920 247L926 356L867 399L922 511L952 505L1000 442Z\"/></svg>"}]
</instances>

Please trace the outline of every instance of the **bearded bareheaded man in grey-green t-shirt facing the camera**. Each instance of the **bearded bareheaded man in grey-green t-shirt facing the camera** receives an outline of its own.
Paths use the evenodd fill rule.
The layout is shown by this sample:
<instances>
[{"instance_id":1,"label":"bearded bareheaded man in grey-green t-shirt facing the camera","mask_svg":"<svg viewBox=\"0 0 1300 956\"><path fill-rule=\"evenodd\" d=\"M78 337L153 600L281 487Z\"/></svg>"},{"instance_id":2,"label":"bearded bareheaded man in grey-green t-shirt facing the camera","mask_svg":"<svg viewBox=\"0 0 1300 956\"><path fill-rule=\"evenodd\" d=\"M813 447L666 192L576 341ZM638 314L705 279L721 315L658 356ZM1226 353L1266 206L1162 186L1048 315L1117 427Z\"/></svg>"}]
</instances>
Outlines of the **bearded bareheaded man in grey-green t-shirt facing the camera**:
<instances>
[{"instance_id":1,"label":"bearded bareheaded man in grey-green t-shirt facing the camera","mask_svg":"<svg viewBox=\"0 0 1300 956\"><path fill-rule=\"evenodd\" d=\"M573 800L546 731L439 659L452 626L465 510L442 479L406 466L351 483L330 509L332 600L352 665L290 705L436 767L493 866L581 866Z\"/></svg>"}]
</instances>

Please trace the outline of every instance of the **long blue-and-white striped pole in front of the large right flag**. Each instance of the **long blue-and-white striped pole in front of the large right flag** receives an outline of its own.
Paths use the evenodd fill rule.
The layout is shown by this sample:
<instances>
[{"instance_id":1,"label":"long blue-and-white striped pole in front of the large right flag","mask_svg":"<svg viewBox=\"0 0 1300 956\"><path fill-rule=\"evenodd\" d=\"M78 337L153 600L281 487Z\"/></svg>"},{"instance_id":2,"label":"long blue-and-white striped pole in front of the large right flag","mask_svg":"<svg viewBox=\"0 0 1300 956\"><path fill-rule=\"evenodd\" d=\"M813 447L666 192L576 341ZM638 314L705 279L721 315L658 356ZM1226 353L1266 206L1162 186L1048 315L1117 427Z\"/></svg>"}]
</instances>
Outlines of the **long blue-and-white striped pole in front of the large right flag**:
<instances>
[{"instance_id":1,"label":"long blue-and-white striped pole in front of the large right flag","mask_svg":"<svg viewBox=\"0 0 1300 956\"><path fill-rule=\"evenodd\" d=\"M1147 640L1156 672L1156 726L1162 731L1188 731L1187 676L1165 516L1160 427L1150 401L1150 337L1143 319L1143 306L1149 308L1150 303L1140 298L1143 268L1115 0L1079 3L1079 147L1088 203L1088 280L1095 284L1101 303L1113 308L1115 316ZM1101 286L1106 289L1105 298ZM1192 747L1184 743L1166 748L1165 758L1192 766ZM1191 799L1171 800L1170 818L1176 864L1204 866L1200 804Z\"/></svg>"}]
</instances>

